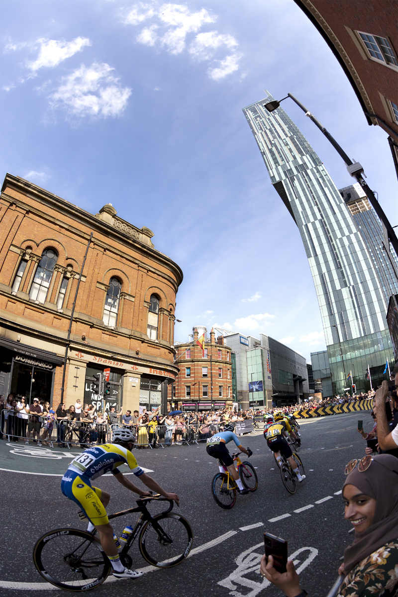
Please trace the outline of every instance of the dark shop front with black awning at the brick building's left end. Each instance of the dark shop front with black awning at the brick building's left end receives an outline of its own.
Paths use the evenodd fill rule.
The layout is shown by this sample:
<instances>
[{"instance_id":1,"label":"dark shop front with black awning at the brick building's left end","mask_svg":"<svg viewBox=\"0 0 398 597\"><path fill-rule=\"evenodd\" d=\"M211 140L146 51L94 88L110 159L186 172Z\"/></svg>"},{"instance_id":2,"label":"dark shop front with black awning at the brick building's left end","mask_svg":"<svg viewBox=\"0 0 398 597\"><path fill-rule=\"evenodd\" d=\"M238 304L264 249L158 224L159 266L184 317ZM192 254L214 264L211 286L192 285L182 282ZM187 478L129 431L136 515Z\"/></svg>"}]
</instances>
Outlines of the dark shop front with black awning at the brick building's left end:
<instances>
[{"instance_id":1,"label":"dark shop front with black awning at the brick building's left end","mask_svg":"<svg viewBox=\"0 0 398 597\"><path fill-rule=\"evenodd\" d=\"M53 352L6 338L0 338L0 346L0 393L24 396L28 404L39 398L52 405L55 370L63 359Z\"/></svg>"}]
</instances>

